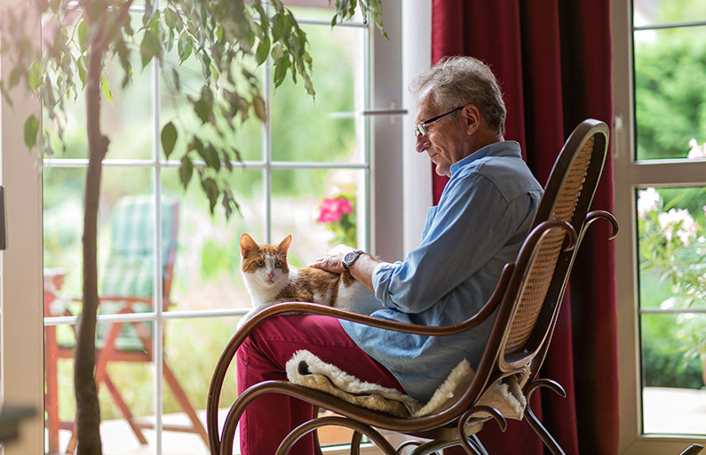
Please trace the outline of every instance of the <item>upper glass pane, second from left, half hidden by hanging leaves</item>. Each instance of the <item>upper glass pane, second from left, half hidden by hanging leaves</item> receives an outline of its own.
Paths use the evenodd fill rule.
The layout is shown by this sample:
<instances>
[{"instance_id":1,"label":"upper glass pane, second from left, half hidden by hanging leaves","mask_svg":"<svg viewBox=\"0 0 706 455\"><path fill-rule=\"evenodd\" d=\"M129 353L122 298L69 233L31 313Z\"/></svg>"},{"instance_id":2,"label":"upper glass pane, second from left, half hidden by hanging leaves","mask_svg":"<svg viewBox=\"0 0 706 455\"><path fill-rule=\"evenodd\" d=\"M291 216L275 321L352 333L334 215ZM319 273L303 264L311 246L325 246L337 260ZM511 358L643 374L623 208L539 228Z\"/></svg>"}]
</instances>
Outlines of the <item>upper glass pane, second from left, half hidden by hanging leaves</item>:
<instances>
[{"instance_id":1,"label":"upper glass pane, second from left, half hidden by hanging leaves","mask_svg":"<svg viewBox=\"0 0 706 455\"><path fill-rule=\"evenodd\" d=\"M262 80L262 68L256 68L254 61L243 62L239 60L238 64L243 65L244 68L257 75L258 80ZM175 71L178 78L174 75ZM165 58L162 71L161 93L161 128L164 124L172 122L177 126L178 132L181 133L178 137L174 152L170 156L171 160L179 160L181 156L184 155L187 144L186 140L184 140L183 132L198 132L198 136L202 140L214 140L217 137L217 132L212 125L203 125L201 119L194 113L194 108L187 98L191 97L195 100L200 98L202 81L201 61L197 60L194 54L192 54L186 61L179 64L175 44L174 48L171 49L171 52L169 52ZM239 83L238 86L244 85L242 76L236 77L236 82ZM221 88L226 87L228 90L232 90L232 87L226 86L225 77L219 79L219 84L221 84ZM217 95L216 102L224 102L223 96ZM264 126L252 111L250 111L248 115L250 117L248 117L243 124L239 124L242 119L240 115L234 118L217 118L215 120L219 124L225 124L226 122L238 124L237 132L226 138L226 144L234 147L240 153L242 160L262 160ZM161 128L160 131L162 131ZM219 149L224 148L226 148L225 144ZM164 156L163 149L160 150L160 155ZM202 158L195 156L192 156L192 158L194 160L202 160Z\"/></svg>"}]
</instances>

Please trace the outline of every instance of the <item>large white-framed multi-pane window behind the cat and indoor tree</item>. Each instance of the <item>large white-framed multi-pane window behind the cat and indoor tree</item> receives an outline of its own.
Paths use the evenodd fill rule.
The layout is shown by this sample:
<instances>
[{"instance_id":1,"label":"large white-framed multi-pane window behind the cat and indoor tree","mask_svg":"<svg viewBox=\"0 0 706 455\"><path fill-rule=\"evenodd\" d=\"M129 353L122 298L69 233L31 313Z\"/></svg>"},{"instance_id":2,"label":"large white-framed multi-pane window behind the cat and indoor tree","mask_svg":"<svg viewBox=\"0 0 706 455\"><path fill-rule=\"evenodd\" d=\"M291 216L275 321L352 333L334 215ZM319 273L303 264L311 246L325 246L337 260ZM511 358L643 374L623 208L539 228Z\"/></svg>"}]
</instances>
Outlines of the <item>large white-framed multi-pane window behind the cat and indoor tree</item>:
<instances>
[{"instance_id":1,"label":"large white-framed multi-pane window behind the cat and indoor tree","mask_svg":"<svg viewBox=\"0 0 706 455\"><path fill-rule=\"evenodd\" d=\"M285 3L309 37L317 97L309 99L290 82L274 91L268 68L260 70L269 122L264 127L246 124L233 139L244 160L234 163L233 175L242 217L236 215L229 222L221 214L211 218L207 200L194 184L183 194L178 188L177 164L164 159L156 139L161 126L175 117L185 125L194 121L183 98L193 70L188 62L178 68L182 84L178 94L170 90L169 72L154 65L140 72L136 64L134 84L125 91L119 89L117 74L108 76L113 101L103 106L103 129L112 143L101 190L99 289L101 297L113 301L101 302L105 311L99 315L98 331L101 346L114 346L135 361L110 362L101 371L103 443L111 453L135 450L140 445L139 434L155 453L175 447L193 453L207 451L195 421L205 424L202 410L213 365L238 316L247 311L248 295L239 272L241 232L249 232L260 243L277 243L292 234L290 261L305 265L336 240L335 221L317 221L317 216L325 198L341 196L354 207L348 214L354 228L342 233L347 235L345 242L385 258L401 257L401 235L391 241L377 233L379 227L386 232L401 227L399 112L398 116L389 116L389 112L362 115L380 114L380 107L383 111L400 109L399 21L386 24L391 36L388 42L374 36L360 19L331 30L333 10L328 2ZM400 14L399 4L385 7L390 17ZM139 20L136 13L133 20ZM395 59L385 61L391 53ZM112 68L113 63L107 65ZM165 68L170 65L168 61ZM80 307L75 298L81 293L87 164L81 130L84 117L79 100L68 116L67 151L45 158L41 174L44 229L42 240L36 235L34 242L44 245L37 254L40 257L44 251L44 259L31 268L36 271L36 290L41 285L39 276L44 275L44 337L48 341L45 451L66 449L71 443L67 428L74 418L73 361L64 355L70 354L75 312ZM4 126L5 138L21 144L21 125ZM385 154L375 153L376 149ZM4 156L4 163L8 162ZM387 169L393 163L397 168ZM37 169L28 166L22 175L36 178ZM37 207L36 201L22 199L19 193L13 194L18 204ZM137 240L131 249L141 256L116 254L115 246L122 244L116 237L121 233ZM4 269L5 276L9 273ZM39 299L37 307L42 307ZM125 307L135 312L125 312ZM23 311L28 319L32 317L27 308ZM34 315L35 321L41 316ZM122 326L111 345L106 339L117 324ZM35 338L41 337L37 332ZM141 355L132 355L131 348ZM41 345L36 346L28 356L41 358L42 351ZM36 397L44 388L42 371L35 376L40 386L28 394ZM234 377L230 384L231 395L223 397L224 406L234 399ZM171 431L180 426L192 427L194 433ZM27 447L19 446L18 453L38 452Z\"/></svg>"}]
</instances>

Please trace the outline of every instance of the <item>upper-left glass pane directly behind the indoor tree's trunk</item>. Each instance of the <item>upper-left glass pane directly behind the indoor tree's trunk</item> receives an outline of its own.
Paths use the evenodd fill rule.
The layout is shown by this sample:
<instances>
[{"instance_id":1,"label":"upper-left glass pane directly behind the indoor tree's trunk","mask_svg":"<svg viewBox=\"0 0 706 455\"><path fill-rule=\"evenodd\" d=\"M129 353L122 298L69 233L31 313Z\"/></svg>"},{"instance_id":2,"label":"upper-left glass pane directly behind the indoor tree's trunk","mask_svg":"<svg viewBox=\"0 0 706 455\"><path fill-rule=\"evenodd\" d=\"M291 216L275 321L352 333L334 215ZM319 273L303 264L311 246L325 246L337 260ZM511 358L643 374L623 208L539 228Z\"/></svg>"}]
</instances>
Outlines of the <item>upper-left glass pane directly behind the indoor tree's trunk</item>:
<instances>
[{"instance_id":1,"label":"upper-left glass pane directly behind the indoor tree's trunk","mask_svg":"<svg viewBox=\"0 0 706 455\"><path fill-rule=\"evenodd\" d=\"M133 29L141 27L138 14L131 14ZM73 30L69 28L69 33ZM139 38L138 38L139 39ZM100 128L110 140L107 158L149 159L153 154L153 107L152 93L153 68L142 68L139 52L131 55L131 83L123 88L125 71L113 54L109 54L104 75L107 87L101 92ZM77 79L77 77L76 77ZM44 113L44 128L50 131L51 147L56 158L88 157L86 135L85 95L79 81L78 96L72 96L66 103L66 117L52 122ZM101 87L103 87L101 85ZM110 95L107 95L110 92ZM72 93L73 95L73 93ZM112 97L112 100L109 100ZM66 150L62 151L57 140L59 127L63 129Z\"/></svg>"}]
</instances>

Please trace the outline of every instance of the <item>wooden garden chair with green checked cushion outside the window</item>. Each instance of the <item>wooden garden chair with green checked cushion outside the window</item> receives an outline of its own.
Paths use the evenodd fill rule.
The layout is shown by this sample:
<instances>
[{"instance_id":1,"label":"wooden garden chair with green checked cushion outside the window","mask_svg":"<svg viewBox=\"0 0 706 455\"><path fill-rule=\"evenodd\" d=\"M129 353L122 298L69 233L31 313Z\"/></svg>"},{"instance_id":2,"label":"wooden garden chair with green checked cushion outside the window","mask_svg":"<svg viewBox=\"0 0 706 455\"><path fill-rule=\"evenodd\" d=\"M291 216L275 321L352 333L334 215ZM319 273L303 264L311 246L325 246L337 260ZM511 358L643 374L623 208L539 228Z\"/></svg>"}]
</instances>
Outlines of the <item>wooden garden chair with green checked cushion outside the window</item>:
<instances>
[{"instance_id":1,"label":"wooden garden chair with green checked cushion outside the window","mask_svg":"<svg viewBox=\"0 0 706 455\"><path fill-rule=\"evenodd\" d=\"M162 295L163 311L166 311L172 305L170 292L174 259L177 251L178 201L175 198L163 198L161 211ZM105 265L99 269L99 314L129 315L153 310L152 296L155 282L154 213L155 202L152 196L126 196L115 204L115 211L111 219L109 253ZM70 313L65 312L65 315L70 315ZM154 427L154 425L148 422L140 422L132 416L130 408L123 399L123 395L115 386L115 381L110 377L107 365L112 362L153 363L155 356L153 353L152 324L145 322L99 323L96 329L96 384L99 387L101 385L107 387L113 402L141 444L147 444L147 439L143 435L142 430ZM49 331L47 332L49 333ZM54 358L73 358L74 356L74 346L55 344L53 348ZM48 355L47 357L50 359L51 356ZM191 422L191 425L186 427L163 424L163 430L193 432L200 435L204 443L206 443L206 430L194 411L194 407L189 403L184 390L179 385L166 359L163 359L162 369L163 378ZM50 371L49 367L47 371ZM53 376L47 373L47 390L52 388L56 390L56 384L52 384L52 381L56 381L55 368L53 368ZM58 429L52 426L59 422L59 418L56 404L49 402L48 397L47 410L50 415L47 418L47 427L51 439L52 435L58 434ZM70 429L72 432L74 430L74 422L59 422L59 426L64 429ZM72 453L75 450L75 442L74 432L68 443L67 453ZM58 443L50 441L50 447L56 448Z\"/></svg>"}]
</instances>

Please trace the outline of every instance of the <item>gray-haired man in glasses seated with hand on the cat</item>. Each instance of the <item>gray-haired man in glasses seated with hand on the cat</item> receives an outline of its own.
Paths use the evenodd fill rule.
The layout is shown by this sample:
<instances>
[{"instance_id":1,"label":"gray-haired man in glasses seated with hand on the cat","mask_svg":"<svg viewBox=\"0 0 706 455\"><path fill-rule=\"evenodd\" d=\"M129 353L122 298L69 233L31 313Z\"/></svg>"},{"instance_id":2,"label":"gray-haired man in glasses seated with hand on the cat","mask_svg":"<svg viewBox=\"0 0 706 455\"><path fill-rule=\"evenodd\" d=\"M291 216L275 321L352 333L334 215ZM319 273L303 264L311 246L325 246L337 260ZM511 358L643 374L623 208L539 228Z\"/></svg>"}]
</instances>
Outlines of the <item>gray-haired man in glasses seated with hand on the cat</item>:
<instances>
[{"instance_id":1,"label":"gray-haired man in glasses seated with hand on the cat","mask_svg":"<svg viewBox=\"0 0 706 455\"><path fill-rule=\"evenodd\" d=\"M383 308L375 317L460 323L488 300L504 264L517 256L542 187L522 160L520 145L503 138L502 93L480 60L442 60L418 76L412 89L416 151L429 156L437 173L450 176L439 204L429 210L419 247L394 263L336 248L312 267L337 273L347 268L380 300ZM436 338L325 316L273 318L238 352L238 388L285 379L284 363L306 348L353 376L425 402L463 358L477 365L489 330L488 321L470 333ZM311 408L295 399L264 398L252 403L241 420L243 453L274 453L282 439L277 438L311 415ZM275 417L282 411L286 419ZM273 420L280 420L276 429ZM295 449L313 453L310 439Z\"/></svg>"}]
</instances>

